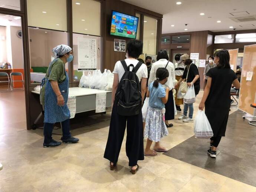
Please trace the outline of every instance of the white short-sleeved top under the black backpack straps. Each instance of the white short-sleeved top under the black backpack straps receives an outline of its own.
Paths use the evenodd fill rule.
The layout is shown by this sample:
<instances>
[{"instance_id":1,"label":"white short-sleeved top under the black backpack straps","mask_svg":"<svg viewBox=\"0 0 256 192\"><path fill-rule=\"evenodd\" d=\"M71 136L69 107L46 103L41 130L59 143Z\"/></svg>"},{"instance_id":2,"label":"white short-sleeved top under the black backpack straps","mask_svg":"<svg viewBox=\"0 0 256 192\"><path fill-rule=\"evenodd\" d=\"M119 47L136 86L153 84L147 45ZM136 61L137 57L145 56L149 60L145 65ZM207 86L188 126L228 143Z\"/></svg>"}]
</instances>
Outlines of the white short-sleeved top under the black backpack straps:
<instances>
[{"instance_id":1,"label":"white short-sleeved top under the black backpack straps","mask_svg":"<svg viewBox=\"0 0 256 192\"><path fill-rule=\"evenodd\" d=\"M127 64L127 66L129 66L130 64L133 64L134 67L136 67L138 62L139 61L137 59L125 59L125 63ZM132 71L132 67L130 67L130 71ZM120 82L120 80L122 79L122 76L125 73L125 70L124 70L124 67L122 66L121 61L116 62L113 73L118 74L118 78ZM138 69L136 75L138 76L139 81L141 81L142 77L148 78L147 66L145 64L142 64L141 67Z\"/></svg>"}]
</instances>

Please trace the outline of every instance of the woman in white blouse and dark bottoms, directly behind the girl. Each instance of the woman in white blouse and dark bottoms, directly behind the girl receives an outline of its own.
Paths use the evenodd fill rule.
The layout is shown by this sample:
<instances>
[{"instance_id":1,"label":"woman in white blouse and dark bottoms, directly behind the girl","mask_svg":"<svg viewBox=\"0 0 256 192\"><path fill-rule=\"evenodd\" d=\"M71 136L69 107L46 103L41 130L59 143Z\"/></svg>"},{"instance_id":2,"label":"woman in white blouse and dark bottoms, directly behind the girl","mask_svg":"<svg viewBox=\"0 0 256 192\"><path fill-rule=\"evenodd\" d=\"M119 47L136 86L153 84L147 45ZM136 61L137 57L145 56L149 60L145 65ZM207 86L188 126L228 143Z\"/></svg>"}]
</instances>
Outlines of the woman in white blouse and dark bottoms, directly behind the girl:
<instances>
[{"instance_id":1,"label":"woman in white blouse and dark bottoms, directly behind the girl","mask_svg":"<svg viewBox=\"0 0 256 192\"><path fill-rule=\"evenodd\" d=\"M166 50L160 50L158 52L157 62L153 63L150 71L148 85L150 85L150 83L156 79L155 73L160 67L165 67L170 74L167 82L164 84L164 86L168 87L171 92L169 93L168 102L165 104L165 124L167 127L172 127L173 124L169 124L168 120L174 119L174 100L172 89L174 88L175 83L175 68L174 64L172 62L169 62L169 57Z\"/></svg>"}]
</instances>

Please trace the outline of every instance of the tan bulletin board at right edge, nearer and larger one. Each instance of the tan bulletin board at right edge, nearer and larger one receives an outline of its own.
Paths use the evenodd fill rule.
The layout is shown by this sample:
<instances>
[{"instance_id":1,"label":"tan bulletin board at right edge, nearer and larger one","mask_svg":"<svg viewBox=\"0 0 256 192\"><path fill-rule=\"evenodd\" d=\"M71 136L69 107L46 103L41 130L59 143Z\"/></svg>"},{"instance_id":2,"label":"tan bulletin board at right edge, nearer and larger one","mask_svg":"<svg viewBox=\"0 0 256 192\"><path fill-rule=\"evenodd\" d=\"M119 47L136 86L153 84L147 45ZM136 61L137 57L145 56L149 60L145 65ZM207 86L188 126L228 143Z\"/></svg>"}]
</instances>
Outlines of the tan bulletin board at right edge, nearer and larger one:
<instances>
[{"instance_id":1,"label":"tan bulletin board at right edge, nearer and larger one","mask_svg":"<svg viewBox=\"0 0 256 192\"><path fill-rule=\"evenodd\" d=\"M252 80L246 80L247 72L253 72ZM238 108L251 115L255 114L256 103L256 44L244 46L243 67Z\"/></svg>"}]
</instances>

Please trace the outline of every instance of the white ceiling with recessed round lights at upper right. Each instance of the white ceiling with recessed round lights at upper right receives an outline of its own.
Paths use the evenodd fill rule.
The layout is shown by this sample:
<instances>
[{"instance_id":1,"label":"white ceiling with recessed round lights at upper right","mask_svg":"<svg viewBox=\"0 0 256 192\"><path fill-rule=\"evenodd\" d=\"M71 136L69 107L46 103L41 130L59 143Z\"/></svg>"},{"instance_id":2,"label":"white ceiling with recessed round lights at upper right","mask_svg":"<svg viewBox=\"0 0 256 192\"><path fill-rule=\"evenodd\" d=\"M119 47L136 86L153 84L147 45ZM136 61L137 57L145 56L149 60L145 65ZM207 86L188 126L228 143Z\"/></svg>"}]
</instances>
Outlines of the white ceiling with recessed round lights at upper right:
<instances>
[{"instance_id":1,"label":"white ceiling with recessed round lights at upper right","mask_svg":"<svg viewBox=\"0 0 256 192\"><path fill-rule=\"evenodd\" d=\"M177 33L210 30L213 32L256 29L256 21L235 22L229 13L247 11L256 15L256 0L122 0L163 14L162 33ZM176 2L182 2L177 5ZM205 13L201 16L200 13ZM208 18L211 17L211 18ZM221 23L217 23L220 20ZM185 26L185 24L188 24ZM253 27L240 27L241 24L254 24ZM174 25L174 27L171 27ZM184 29L188 29L185 31Z\"/></svg>"}]
</instances>

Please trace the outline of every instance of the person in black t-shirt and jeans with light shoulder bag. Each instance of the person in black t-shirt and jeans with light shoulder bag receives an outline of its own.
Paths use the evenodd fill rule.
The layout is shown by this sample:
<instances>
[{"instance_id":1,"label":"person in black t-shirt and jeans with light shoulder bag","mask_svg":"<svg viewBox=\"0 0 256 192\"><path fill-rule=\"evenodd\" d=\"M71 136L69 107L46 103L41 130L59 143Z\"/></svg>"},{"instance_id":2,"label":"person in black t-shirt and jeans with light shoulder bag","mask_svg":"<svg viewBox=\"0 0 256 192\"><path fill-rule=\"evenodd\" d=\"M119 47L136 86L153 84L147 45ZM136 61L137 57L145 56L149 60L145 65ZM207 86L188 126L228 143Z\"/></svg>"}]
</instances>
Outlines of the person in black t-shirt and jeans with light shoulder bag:
<instances>
[{"instance_id":1,"label":"person in black t-shirt and jeans with light shoulder bag","mask_svg":"<svg viewBox=\"0 0 256 192\"><path fill-rule=\"evenodd\" d=\"M175 85L175 88L178 87L182 81L186 80L186 77L188 74L187 85L188 85L188 87L190 87L190 86L192 86L192 83L193 83L195 93L196 93L196 95L198 95L198 93L200 91L200 77L199 77L199 72L198 72L197 66L192 62L193 61L191 59L186 59L186 61L185 61L186 68L184 70L183 76L178 81L178 83ZM189 109L189 114L187 117L188 109ZM193 112L194 112L193 103L191 103L191 104L184 103L183 115L178 117L178 119L183 120L183 122L185 122L185 123L193 122Z\"/></svg>"}]
</instances>

